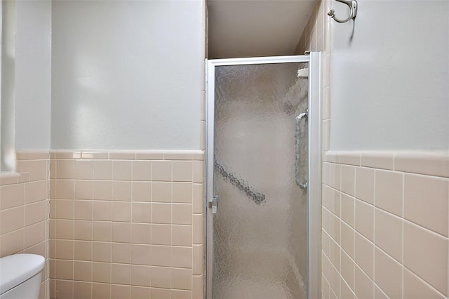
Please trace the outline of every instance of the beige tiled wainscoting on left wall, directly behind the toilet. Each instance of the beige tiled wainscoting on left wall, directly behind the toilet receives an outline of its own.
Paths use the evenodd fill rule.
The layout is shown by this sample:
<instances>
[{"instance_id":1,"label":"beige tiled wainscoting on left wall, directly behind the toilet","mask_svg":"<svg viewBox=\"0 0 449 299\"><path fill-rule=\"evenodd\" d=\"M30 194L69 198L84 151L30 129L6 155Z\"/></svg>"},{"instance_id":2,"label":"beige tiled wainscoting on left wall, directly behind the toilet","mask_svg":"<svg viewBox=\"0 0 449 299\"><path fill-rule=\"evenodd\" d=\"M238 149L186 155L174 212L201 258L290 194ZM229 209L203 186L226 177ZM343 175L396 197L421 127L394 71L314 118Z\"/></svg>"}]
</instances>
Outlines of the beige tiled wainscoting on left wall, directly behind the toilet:
<instances>
[{"instance_id":1,"label":"beige tiled wainscoting on left wall, directly behind the toilet","mask_svg":"<svg viewBox=\"0 0 449 299\"><path fill-rule=\"evenodd\" d=\"M16 153L15 173L0 174L0 257L46 258L40 299L48 298L48 151Z\"/></svg>"}]
</instances>

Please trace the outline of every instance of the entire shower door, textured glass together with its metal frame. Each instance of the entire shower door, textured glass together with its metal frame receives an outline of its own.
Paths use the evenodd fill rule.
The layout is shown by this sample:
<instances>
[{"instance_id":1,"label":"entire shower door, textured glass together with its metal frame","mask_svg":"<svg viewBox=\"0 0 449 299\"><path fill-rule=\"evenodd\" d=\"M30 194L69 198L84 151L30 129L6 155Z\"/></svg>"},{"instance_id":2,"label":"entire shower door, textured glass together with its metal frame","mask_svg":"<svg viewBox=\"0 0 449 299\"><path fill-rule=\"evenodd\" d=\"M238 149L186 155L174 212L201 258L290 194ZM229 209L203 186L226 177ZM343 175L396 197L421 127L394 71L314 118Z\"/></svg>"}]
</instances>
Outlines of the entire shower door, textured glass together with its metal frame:
<instances>
[{"instance_id":1,"label":"entire shower door, textured glass together with its metal frame","mask_svg":"<svg viewBox=\"0 0 449 299\"><path fill-rule=\"evenodd\" d=\"M320 63L208 60L208 299L319 297Z\"/></svg>"}]
</instances>

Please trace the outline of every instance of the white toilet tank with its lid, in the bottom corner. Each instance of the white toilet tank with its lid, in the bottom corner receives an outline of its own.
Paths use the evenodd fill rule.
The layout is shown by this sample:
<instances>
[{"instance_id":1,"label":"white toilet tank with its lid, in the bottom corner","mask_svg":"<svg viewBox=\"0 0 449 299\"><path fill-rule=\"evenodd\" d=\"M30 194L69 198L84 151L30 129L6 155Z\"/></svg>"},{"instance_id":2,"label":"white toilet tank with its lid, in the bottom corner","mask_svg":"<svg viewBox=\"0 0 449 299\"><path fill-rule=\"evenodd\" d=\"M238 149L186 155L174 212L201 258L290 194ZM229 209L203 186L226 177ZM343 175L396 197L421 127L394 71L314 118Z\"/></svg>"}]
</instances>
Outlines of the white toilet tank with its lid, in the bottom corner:
<instances>
[{"instance_id":1,"label":"white toilet tank with its lid, in the bottom corner","mask_svg":"<svg viewBox=\"0 0 449 299\"><path fill-rule=\"evenodd\" d=\"M38 299L44 263L28 253L0 258L0 299Z\"/></svg>"}]
</instances>

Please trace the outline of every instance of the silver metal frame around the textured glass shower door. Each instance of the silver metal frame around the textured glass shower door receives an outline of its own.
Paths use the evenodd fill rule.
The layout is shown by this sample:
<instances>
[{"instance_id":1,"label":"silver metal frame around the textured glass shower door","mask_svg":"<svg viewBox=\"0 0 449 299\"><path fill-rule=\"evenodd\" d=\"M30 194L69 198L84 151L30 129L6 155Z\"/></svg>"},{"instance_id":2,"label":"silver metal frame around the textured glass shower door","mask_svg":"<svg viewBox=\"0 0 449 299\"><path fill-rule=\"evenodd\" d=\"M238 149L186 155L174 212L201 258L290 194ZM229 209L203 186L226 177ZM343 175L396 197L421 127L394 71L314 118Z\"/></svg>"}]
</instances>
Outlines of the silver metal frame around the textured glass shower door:
<instances>
[{"instance_id":1,"label":"silver metal frame around the textured glass shower door","mask_svg":"<svg viewBox=\"0 0 449 299\"><path fill-rule=\"evenodd\" d=\"M206 60L206 197L204 203L204 298L212 298L213 275L213 171L215 67L309 62L308 91L308 211L307 211L307 297L321 297L321 52L309 55ZM218 211L217 213L220 213Z\"/></svg>"}]
</instances>

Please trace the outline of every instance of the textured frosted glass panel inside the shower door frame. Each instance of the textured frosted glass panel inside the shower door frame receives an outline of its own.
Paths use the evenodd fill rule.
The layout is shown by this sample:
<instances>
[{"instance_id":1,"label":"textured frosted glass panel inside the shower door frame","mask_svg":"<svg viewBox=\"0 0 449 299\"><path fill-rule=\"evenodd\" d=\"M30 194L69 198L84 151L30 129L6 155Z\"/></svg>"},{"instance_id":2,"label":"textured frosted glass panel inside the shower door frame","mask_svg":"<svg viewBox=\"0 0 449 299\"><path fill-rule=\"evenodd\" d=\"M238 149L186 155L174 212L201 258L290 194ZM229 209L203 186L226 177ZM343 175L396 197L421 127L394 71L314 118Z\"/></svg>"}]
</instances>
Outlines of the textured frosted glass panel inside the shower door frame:
<instances>
[{"instance_id":1,"label":"textured frosted glass panel inside the shower door frame","mask_svg":"<svg viewBox=\"0 0 449 299\"><path fill-rule=\"evenodd\" d=\"M307 63L215 67L213 298L307 297ZM298 142L307 169L307 123Z\"/></svg>"}]
</instances>

